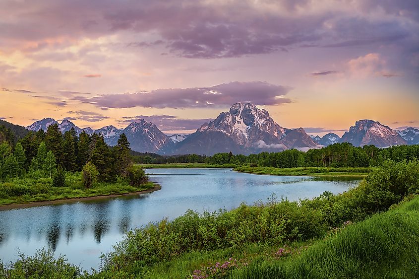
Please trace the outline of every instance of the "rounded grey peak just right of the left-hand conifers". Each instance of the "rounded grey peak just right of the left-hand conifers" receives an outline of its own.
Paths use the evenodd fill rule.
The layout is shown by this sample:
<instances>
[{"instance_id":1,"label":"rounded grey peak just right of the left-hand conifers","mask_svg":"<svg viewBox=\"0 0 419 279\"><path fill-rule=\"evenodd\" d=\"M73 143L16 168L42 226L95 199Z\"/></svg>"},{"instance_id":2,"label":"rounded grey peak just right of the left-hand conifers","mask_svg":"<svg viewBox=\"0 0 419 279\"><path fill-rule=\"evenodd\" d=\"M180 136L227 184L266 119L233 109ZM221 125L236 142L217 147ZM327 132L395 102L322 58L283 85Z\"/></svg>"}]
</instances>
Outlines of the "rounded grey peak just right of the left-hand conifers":
<instances>
[{"instance_id":1,"label":"rounded grey peak just right of the left-hand conifers","mask_svg":"<svg viewBox=\"0 0 419 279\"><path fill-rule=\"evenodd\" d=\"M131 149L138 152L165 154L170 152L175 145L169 136L163 134L156 125L144 119L132 122L123 130L123 133Z\"/></svg>"}]
</instances>

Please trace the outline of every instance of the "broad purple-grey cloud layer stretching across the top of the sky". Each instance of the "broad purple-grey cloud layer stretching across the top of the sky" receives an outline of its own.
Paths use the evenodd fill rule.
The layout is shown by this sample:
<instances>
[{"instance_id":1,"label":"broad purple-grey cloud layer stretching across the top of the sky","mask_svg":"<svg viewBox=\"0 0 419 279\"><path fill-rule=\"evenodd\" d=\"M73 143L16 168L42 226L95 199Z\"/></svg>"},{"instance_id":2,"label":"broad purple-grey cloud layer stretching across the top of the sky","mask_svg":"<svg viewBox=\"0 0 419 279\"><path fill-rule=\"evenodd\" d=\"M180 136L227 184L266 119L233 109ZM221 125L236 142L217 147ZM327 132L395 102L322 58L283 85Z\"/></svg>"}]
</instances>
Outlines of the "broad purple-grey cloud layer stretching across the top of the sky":
<instances>
[{"instance_id":1,"label":"broad purple-grey cloud layer stretching across the top of the sky","mask_svg":"<svg viewBox=\"0 0 419 279\"><path fill-rule=\"evenodd\" d=\"M140 38L128 47L159 46L187 58L230 58L307 45L396 44L415 39L418 17L415 0L2 0L0 47L38 51L124 32ZM64 52L52 59L68 57Z\"/></svg>"}]
</instances>

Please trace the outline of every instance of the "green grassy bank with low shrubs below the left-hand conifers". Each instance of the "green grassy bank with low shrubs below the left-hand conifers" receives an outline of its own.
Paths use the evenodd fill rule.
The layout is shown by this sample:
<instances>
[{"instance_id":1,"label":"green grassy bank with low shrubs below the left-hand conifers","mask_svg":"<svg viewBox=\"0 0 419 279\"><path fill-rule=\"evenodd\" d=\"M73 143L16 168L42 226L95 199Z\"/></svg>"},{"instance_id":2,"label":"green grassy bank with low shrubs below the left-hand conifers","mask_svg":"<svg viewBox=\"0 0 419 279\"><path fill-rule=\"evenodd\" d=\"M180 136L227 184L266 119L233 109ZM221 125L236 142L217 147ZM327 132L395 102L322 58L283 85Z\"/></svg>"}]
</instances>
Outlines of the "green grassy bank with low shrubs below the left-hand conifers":
<instances>
[{"instance_id":1,"label":"green grassy bank with low shrubs below the left-hand conifers","mask_svg":"<svg viewBox=\"0 0 419 279\"><path fill-rule=\"evenodd\" d=\"M95 196L120 195L153 189L148 182L139 187L129 185L119 179L115 183L95 183L92 188L84 188L80 173L67 173L64 187L54 187L52 178L15 178L0 183L0 206L33 202L78 199Z\"/></svg>"}]
</instances>

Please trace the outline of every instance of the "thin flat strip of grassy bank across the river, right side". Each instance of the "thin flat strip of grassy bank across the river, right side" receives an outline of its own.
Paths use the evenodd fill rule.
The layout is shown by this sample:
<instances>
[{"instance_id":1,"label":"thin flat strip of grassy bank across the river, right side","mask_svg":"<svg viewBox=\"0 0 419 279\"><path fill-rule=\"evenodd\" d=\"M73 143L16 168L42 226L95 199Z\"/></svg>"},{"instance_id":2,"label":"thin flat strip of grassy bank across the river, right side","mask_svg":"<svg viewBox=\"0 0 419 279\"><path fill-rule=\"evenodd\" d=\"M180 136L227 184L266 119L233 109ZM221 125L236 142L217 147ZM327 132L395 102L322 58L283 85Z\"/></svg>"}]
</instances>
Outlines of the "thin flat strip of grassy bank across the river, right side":
<instances>
[{"instance_id":1,"label":"thin flat strip of grassy bank across the river, right side","mask_svg":"<svg viewBox=\"0 0 419 279\"><path fill-rule=\"evenodd\" d=\"M369 167L301 167L274 168L241 166L233 169L238 172L266 174L266 175L310 175L310 176L358 176L364 177L371 170Z\"/></svg>"}]
</instances>

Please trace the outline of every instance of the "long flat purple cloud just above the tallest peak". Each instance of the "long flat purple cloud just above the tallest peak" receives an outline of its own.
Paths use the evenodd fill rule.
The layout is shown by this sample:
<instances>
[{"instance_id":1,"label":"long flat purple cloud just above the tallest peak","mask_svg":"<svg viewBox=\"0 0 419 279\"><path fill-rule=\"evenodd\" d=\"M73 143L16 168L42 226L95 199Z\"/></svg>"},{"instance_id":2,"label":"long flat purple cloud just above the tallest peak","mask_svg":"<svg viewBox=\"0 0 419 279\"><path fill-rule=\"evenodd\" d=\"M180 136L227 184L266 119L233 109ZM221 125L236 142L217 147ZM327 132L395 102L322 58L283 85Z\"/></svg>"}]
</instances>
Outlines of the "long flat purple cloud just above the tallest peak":
<instances>
[{"instance_id":1,"label":"long flat purple cloud just above the tallest peak","mask_svg":"<svg viewBox=\"0 0 419 279\"><path fill-rule=\"evenodd\" d=\"M236 102L255 105L291 103L284 98L291 87L263 81L229 82L210 87L169 88L123 94L104 94L82 100L101 108L209 108L229 106Z\"/></svg>"}]
</instances>

